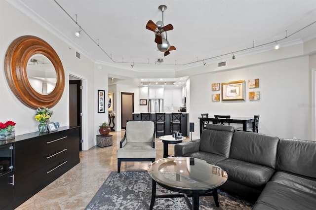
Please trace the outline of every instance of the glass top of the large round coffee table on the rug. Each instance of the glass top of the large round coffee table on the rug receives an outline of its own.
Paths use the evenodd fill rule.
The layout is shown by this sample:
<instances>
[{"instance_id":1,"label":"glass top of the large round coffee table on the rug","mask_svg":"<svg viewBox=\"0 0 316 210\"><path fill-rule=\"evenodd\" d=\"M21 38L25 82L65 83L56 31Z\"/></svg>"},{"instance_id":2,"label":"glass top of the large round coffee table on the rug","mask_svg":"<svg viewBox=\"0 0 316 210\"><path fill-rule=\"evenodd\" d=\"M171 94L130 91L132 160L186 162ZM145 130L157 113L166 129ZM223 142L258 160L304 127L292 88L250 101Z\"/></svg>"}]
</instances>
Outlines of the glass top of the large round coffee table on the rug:
<instances>
[{"instance_id":1,"label":"glass top of the large round coffee table on the rug","mask_svg":"<svg viewBox=\"0 0 316 210\"><path fill-rule=\"evenodd\" d=\"M163 158L148 167L148 174L158 183L185 190L208 190L221 186L227 173L216 165L190 157Z\"/></svg>"}]
</instances>

